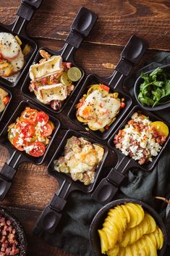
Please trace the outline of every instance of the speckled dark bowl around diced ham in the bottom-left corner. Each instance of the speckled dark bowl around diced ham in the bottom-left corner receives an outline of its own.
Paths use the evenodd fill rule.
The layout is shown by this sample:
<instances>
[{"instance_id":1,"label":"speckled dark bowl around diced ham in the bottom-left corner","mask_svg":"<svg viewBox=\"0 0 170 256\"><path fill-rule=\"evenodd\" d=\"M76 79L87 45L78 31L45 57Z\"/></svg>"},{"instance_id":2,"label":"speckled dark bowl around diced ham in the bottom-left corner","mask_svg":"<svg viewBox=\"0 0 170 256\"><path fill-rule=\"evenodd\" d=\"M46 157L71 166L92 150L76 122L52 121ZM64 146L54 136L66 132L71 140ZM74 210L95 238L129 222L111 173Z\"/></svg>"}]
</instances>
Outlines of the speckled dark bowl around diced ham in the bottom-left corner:
<instances>
[{"instance_id":1,"label":"speckled dark bowl around diced ham in the bottom-left corner","mask_svg":"<svg viewBox=\"0 0 170 256\"><path fill-rule=\"evenodd\" d=\"M3 207L0 207L0 215L2 215L7 220L10 220L12 223L12 227L16 229L17 239L19 241L18 248L20 250L20 252L16 256L26 256L27 240L26 240L25 232L20 222Z\"/></svg>"}]
</instances>

